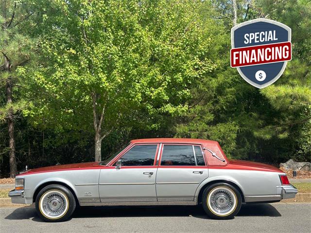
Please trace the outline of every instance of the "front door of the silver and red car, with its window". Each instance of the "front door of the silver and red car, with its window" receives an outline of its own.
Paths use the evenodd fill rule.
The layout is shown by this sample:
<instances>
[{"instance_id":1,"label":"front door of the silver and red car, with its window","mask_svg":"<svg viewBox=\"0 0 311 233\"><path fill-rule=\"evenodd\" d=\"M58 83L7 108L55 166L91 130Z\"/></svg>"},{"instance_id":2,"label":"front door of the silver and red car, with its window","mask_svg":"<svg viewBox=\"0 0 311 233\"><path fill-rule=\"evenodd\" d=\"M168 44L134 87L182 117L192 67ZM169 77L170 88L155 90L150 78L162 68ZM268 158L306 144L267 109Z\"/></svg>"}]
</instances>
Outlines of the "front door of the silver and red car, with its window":
<instances>
[{"instance_id":1,"label":"front door of the silver and red car, with its window","mask_svg":"<svg viewBox=\"0 0 311 233\"><path fill-rule=\"evenodd\" d=\"M99 194L101 202L156 201L155 155L158 144L136 144L116 164L101 169Z\"/></svg>"}]
</instances>

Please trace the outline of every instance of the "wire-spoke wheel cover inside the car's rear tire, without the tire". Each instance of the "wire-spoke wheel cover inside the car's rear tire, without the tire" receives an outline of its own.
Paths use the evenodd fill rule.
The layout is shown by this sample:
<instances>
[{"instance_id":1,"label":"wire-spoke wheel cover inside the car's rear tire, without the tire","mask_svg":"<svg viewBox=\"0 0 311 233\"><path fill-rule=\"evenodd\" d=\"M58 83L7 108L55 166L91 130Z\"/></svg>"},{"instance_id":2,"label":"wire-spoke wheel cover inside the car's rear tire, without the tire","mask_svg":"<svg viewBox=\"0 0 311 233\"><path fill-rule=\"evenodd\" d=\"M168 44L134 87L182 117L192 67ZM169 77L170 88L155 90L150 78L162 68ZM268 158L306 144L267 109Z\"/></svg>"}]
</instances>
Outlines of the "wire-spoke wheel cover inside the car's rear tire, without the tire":
<instances>
[{"instance_id":1,"label":"wire-spoke wheel cover inside the car's rear tire, without the tire","mask_svg":"<svg viewBox=\"0 0 311 233\"><path fill-rule=\"evenodd\" d=\"M218 186L209 192L207 206L215 215L228 216L237 207L237 197L230 188Z\"/></svg>"}]
</instances>

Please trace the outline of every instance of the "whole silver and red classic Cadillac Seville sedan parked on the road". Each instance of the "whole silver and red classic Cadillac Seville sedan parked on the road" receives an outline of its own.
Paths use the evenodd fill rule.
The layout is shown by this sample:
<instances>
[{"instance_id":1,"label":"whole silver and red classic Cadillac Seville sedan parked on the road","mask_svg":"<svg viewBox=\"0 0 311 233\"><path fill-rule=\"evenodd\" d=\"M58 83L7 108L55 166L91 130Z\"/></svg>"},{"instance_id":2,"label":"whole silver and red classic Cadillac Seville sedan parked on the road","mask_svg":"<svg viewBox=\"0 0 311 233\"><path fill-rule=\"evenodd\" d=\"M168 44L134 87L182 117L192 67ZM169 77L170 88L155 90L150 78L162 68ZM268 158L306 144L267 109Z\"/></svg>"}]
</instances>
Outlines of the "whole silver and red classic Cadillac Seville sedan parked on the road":
<instances>
[{"instance_id":1,"label":"whole silver and red classic Cadillac Seville sedan parked on the road","mask_svg":"<svg viewBox=\"0 0 311 233\"><path fill-rule=\"evenodd\" d=\"M33 204L45 221L69 219L76 206L202 205L229 219L242 203L294 198L297 189L278 168L229 160L218 142L132 140L104 162L29 169L17 175L13 203Z\"/></svg>"}]
</instances>

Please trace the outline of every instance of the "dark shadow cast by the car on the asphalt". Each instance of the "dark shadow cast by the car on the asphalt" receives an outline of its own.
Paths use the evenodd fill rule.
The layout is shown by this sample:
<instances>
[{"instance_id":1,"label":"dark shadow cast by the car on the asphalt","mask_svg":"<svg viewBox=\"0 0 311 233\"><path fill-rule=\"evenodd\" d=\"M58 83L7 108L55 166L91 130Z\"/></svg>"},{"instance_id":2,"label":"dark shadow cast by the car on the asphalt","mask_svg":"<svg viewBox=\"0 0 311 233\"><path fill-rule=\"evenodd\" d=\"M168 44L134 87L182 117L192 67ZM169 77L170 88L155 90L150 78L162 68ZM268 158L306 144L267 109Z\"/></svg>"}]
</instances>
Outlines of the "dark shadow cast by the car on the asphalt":
<instances>
[{"instance_id":1,"label":"dark shadow cast by the car on the asphalt","mask_svg":"<svg viewBox=\"0 0 311 233\"><path fill-rule=\"evenodd\" d=\"M126 206L126 207L80 207L72 218L86 217L167 217L167 216L193 216L209 219L201 206ZM278 217L281 214L270 204L242 205L237 216L270 216ZM32 219L42 222L35 212L35 208L23 207L14 210L5 219Z\"/></svg>"}]
</instances>

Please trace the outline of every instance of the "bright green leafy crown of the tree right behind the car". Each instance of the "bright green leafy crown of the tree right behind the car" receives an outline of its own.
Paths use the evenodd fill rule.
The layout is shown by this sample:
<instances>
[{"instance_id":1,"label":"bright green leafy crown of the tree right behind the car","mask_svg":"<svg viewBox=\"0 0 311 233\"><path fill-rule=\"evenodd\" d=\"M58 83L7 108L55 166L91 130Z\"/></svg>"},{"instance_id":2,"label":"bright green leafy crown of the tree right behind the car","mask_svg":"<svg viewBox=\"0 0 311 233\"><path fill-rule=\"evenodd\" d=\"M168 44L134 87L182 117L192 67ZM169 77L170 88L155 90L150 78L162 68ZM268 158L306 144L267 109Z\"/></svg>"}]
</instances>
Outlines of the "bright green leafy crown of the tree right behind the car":
<instances>
[{"instance_id":1,"label":"bright green leafy crown of the tree right behind the car","mask_svg":"<svg viewBox=\"0 0 311 233\"><path fill-rule=\"evenodd\" d=\"M38 44L47 60L19 69L37 97L24 112L34 125L101 127L102 135L129 122L159 129L158 116L185 113L190 84L217 66L217 25L199 14L205 2L49 4Z\"/></svg>"}]
</instances>

